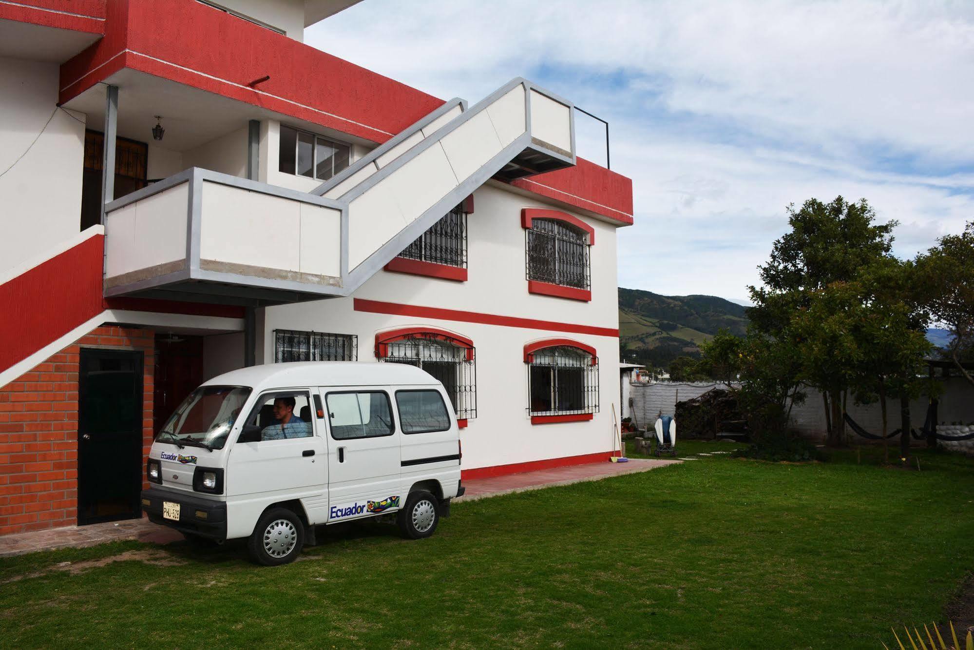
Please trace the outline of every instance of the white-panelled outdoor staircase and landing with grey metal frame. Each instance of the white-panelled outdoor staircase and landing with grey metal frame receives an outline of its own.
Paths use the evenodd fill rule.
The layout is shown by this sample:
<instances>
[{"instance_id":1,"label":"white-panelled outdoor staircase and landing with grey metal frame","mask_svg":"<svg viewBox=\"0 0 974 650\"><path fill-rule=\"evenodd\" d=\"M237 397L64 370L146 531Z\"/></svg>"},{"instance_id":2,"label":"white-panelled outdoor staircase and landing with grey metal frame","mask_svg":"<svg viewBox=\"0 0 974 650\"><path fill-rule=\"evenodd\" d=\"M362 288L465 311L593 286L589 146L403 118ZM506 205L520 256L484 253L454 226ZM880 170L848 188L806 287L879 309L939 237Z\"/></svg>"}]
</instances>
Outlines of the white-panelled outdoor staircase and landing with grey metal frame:
<instances>
[{"instance_id":1,"label":"white-panelled outdoor staircase and landing with grey metal frame","mask_svg":"<svg viewBox=\"0 0 974 650\"><path fill-rule=\"evenodd\" d=\"M491 178L575 164L571 104L514 79L468 109L447 102L313 193L193 168L109 203L105 294L349 295Z\"/></svg>"}]
</instances>

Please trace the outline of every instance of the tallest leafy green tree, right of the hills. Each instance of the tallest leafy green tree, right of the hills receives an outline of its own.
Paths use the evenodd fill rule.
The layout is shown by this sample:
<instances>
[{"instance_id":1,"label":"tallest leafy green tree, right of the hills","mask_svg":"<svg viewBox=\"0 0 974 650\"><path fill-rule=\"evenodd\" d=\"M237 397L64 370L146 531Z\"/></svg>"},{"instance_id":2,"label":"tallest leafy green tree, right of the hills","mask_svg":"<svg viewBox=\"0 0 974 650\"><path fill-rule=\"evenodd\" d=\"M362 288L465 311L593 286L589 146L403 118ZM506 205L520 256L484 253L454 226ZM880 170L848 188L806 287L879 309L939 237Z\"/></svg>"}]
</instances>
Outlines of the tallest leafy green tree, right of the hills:
<instances>
[{"instance_id":1,"label":"tallest leafy green tree, right of the hills","mask_svg":"<svg viewBox=\"0 0 974 650\"><path fill-rule=\"evenodd\" d=\"M756 332L784 349L793 346L799 378L822 392L829 442L842 444L843 400L862 354L854 335L861 287L850 283L891 257L896 222L876 224L865 199L848 203L841 196L828 204L809 199L801 210L789 206L788 215L791 230L758 267L764 286L749 287L755 306L748 316Z\"/></svg>"}]
</instances>

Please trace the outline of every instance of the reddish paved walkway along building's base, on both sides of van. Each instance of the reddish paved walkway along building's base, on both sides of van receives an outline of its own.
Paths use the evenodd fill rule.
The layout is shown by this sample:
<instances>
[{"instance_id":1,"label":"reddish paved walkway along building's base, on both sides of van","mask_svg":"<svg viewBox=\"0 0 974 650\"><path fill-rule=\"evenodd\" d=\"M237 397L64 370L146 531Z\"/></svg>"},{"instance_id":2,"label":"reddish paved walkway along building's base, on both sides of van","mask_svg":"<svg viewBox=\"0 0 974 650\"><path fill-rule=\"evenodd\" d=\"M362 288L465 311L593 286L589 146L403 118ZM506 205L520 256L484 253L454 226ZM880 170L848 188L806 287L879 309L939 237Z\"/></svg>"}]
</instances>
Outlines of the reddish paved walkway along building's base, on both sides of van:
<instances>
[{"instance_id":1,"label":"reddish paved walkway along building's base, on both sides of van","mask_svg":"<svg viewBox=\"0 0 974 650\"><path fill-rule=\"evenodd\" d=\"M657 467L679 462L681 461L633 458L628 463L591 463L522 474L508 474L503 477L471 478L464 481L467 493L457 501L472 501L510 492L523 492L553 485L568 485L583 480L599 480L600 478L623 474L647 472ZM170 544L182 541L182 539L181 533L166 526L152 523L143 517L141 519L93 523L88 526L69 526L5 535L0 537L0 557L35 551L81 548L121 540Z\"/></svg>"}]
</instances>

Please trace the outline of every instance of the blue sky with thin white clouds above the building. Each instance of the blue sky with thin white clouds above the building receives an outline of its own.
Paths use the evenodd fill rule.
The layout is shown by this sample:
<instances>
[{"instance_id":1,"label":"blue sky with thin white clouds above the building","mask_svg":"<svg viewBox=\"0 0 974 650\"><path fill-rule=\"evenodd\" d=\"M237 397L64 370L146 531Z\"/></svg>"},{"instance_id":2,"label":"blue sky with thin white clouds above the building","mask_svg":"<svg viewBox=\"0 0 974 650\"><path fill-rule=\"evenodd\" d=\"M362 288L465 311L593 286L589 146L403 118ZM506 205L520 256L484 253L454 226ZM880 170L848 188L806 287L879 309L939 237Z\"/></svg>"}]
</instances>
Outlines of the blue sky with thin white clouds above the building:
<instances>
[{"instance_id":1,"label":"blue sky with thin white clouds above the building","mask_svg":"<svg viewBox=\"0 0 974 650\"><path fill-rule=\"evenodd\" d=\"M867 198L903 257L974 219L969 0L365 0L305 40L444 99L523 76L608 120L621 287L746 298L810 197Z\"/></svg>"}]
</instances>

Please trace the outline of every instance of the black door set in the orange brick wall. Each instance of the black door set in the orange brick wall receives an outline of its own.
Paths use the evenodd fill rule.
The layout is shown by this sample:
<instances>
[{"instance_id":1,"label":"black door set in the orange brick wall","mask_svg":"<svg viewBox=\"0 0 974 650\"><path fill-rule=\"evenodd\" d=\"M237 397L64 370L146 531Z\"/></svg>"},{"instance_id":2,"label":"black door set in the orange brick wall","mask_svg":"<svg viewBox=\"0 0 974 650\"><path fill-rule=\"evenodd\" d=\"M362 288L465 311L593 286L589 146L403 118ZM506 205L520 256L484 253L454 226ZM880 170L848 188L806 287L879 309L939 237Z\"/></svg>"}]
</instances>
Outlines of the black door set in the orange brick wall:
<instances>
[{"instance_id":1,"label":"black door set in the orange brick wall","mask_svg":"<svg viewBox=\"0 0 974 650\"><path fill-rule=\"evenodd\" d=\"M142 353L82 348L78 524L142 516Z\"/></svg>"}]
</instances>

